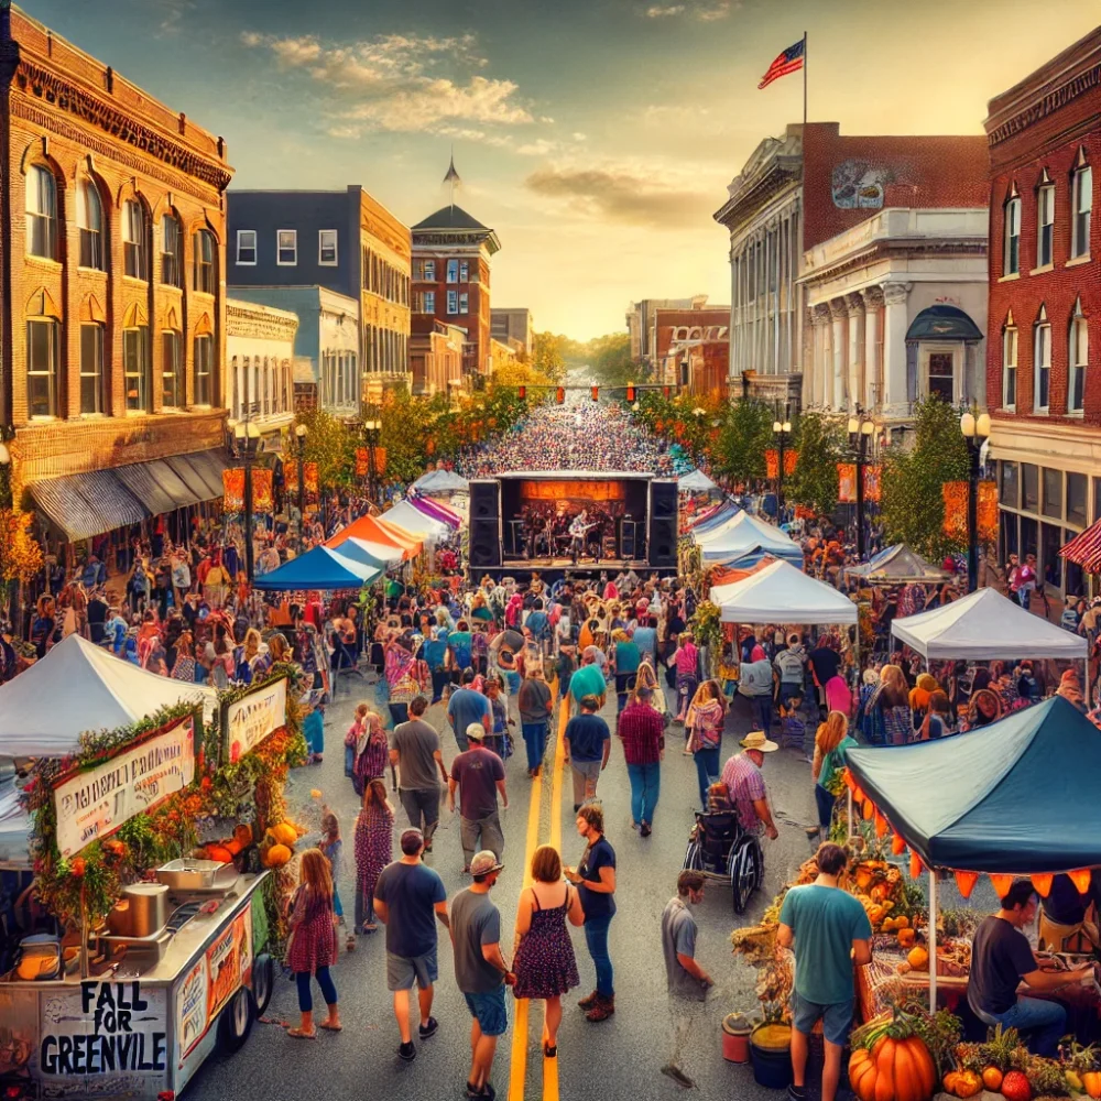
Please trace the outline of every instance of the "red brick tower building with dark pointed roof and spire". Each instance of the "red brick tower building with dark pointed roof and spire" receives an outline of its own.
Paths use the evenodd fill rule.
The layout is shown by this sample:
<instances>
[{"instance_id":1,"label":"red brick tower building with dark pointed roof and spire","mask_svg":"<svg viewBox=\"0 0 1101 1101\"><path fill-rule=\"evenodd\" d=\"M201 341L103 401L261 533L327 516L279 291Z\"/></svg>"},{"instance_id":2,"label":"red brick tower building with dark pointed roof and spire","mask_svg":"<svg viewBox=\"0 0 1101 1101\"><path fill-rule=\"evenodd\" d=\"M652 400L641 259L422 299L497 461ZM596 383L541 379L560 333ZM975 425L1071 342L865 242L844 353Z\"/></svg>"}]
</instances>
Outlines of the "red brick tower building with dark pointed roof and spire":
<instances>
[{"instance_id":1,"label":"red brick tower building with dark pointed roof and spire","mask_svg":"<svg viewBox=\"0 0 1101 1101\"><path fill-rule=\"evenodd\" d=\"M413 227L413 312L467 330L468 386L493 369L490 261L500 250L497 233L454 204Z\"/></svg>"}]
</instances>

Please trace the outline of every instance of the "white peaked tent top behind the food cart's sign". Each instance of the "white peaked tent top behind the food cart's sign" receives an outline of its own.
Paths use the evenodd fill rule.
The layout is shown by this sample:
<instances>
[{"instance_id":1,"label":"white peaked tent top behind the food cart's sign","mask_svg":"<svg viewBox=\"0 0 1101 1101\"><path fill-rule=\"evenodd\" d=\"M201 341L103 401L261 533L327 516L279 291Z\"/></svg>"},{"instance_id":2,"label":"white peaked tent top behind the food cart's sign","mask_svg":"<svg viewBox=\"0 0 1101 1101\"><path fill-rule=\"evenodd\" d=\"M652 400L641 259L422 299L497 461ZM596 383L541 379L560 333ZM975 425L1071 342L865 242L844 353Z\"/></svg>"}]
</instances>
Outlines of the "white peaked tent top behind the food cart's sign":
<instances>
[{"instance_id":1,"label":"white peaked tent top behind the food cart's sign","mask_svg":"<svg viewBox=\"0 0 1101 1101\"><path fill-rule=\"evenodd\" d=\"M214 688L157 676L70 634L0 685L0 753L66 756L87 730L129 727L181 702L201 704L209 719L217 699Z\"/></svg>"}]
</instances>

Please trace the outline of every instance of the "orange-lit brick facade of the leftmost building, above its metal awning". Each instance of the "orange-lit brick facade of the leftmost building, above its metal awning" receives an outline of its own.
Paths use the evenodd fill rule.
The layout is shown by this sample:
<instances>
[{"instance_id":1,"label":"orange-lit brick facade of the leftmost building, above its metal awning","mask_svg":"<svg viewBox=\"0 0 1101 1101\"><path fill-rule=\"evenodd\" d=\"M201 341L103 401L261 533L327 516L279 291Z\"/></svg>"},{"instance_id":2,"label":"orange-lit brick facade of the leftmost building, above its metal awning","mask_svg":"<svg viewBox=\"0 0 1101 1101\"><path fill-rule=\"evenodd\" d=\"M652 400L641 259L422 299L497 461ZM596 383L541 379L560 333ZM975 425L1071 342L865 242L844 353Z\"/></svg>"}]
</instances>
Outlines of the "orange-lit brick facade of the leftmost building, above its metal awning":
<instances>
[{"instance_id":1,"label":"orange-lit brick facade of the leftmost building, above its metal awning","mask_svg":"<svg viewBox=\"0 0 1101 1101\"><path fill-rule=\"evenodd\" d=\"M222 140L14 9L0 11L0 426L17 429L17 477L25 484L220 445L224 193L232 174ZM53 192L52 243L39 249L46 257L31 254L28 238L28 173L36 170L43 173L32 178ZM88 219L78 206L88 196L101 209L100 259L85 266L81 222ZM128 203L143 215L144 279L124 274ZM179 227L167 268L165 215ZM88 412L81 339L91 326L100 327L102 381L86 385L98 396L85 405L99 406ZM148 342L140 408L124 374L124 329L143 330ZM48 331L56 349L45 359L56 364L48 400L41 396L46 383L39 381L36 391L29 385L32 331ZM171 413L163 412L166 333L177 335L179 352Z\"/></svg>"}]
</instances>

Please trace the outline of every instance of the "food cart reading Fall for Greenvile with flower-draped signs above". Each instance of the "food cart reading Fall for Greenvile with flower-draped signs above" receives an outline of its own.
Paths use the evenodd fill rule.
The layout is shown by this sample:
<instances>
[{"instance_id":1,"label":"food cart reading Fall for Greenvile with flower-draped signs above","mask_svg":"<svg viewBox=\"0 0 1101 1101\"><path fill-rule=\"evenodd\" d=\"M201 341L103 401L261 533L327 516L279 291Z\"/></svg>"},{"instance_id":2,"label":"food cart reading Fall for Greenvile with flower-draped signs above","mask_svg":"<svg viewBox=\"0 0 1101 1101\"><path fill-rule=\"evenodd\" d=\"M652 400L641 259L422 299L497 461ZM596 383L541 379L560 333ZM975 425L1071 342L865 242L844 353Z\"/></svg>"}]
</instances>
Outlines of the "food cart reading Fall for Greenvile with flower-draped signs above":
<instances>
[{"instance_id":1,"label":"food cart reading Fall for Greenvile with flower-draped signs above","mask_svg":"<svg viewBox=\"0 0 1101 1101\"><path fill-rule=\"evenodd\" d=\"M174 1095L248 1039L285 944L293 879L269 854L301 832L282 800L298 679L276 666L206 728L182 704L35 762L30 857L57 928L0 975L4 1097Z\"/></svg>"}]
</instances>

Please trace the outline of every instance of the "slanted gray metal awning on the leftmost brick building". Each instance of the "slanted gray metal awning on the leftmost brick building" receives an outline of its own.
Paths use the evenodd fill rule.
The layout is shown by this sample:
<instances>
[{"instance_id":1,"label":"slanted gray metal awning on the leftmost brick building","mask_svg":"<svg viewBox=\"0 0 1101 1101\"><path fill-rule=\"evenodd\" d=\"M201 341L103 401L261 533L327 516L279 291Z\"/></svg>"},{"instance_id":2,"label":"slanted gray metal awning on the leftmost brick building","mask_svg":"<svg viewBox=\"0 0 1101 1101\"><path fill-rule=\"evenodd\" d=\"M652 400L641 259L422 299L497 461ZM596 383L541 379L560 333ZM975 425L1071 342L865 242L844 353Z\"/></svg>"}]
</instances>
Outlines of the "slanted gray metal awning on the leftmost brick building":
<instances>
[{"instance_id":1,"label":"slanted gray metal awning on the leftmost brick building","mask_svg":"<svg viewBox=\"0 0 1101 1101\"><path fill-rule=\"evenodd\" d=\"M131 462L110 470L33 482L39 508L70 542L141 523L222 494L220 449Z\"/></svg>"}]
</instances>

